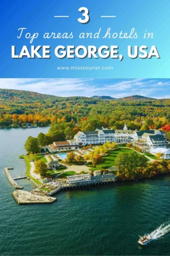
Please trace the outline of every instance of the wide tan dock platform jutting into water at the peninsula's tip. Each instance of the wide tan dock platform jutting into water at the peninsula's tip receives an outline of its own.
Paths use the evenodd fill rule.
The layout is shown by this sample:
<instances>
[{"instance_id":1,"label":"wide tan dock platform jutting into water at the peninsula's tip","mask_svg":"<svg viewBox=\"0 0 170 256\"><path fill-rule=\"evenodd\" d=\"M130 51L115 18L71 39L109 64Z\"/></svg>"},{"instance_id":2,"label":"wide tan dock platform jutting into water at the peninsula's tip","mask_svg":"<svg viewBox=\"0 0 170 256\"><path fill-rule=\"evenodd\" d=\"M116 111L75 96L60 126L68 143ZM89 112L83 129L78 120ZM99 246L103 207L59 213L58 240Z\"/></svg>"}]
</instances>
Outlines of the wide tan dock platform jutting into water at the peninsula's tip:
<instances>
[{"instance_id":1,"label":"wide tan dock platform jutting into water at the peninsula's tip","mask_svg":"<svg viewBox=\"0 0 170 256\"><path fill-rule=\"evenodd\" d=\"M15 190L11 194L18 204L52 204L57 201L55 197L39 196L24 190Z\"/></svg>"}]
</instances>

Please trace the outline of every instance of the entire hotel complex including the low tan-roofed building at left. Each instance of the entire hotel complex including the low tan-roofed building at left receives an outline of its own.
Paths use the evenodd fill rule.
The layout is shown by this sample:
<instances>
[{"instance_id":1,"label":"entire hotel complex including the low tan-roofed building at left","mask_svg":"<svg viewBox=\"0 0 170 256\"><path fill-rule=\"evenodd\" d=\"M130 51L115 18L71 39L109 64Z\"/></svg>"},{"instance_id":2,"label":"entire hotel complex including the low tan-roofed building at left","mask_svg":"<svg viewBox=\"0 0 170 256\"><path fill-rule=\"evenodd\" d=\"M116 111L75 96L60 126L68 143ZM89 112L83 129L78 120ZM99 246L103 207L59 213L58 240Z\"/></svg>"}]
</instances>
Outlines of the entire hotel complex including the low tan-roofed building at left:
<instances>
[{"instance_id":1,"label":"entire hotel complex including the low tan-roofed building at left","mask_svg":"<svg viewBox=\"0 0 170 256\"><path fill-rule=\"evenodd\" d=\"M148 152L153 149L159 149L164 153L164 149L167 147L167 135L161 130L146 130L146 131L133 131L128 130L126 124L123 130L109 130L98 128L95 131L84 131L75 134L73 140L58 141L48 146L50 152L54 151L68 151L77 150L79 146L85 145L103 145L107 141L116 143L131 142L134 146L141 148L143 152ZM169 151L166 155L170 157Z\"/></svg>"}]
</instances>

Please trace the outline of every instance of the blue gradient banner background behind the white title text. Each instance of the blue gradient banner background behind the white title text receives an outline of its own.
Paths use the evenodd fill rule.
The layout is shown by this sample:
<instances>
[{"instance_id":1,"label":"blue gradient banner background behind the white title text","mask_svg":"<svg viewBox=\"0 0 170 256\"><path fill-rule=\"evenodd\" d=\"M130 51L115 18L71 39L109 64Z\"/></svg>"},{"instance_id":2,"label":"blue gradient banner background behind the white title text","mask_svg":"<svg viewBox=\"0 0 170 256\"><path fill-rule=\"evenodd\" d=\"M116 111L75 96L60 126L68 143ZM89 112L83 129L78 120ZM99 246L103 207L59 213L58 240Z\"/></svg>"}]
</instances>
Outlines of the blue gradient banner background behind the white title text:
<instances>
[{"instance_id":1,"label":"blue gradient banner background behind the white title text","mask_svg":"<svg viewBox=\"0 0 170 256\"><path fill-rule=\"evenodd\" d=\"M79 7L90 10L90 22L78 22ZM169 78L170 67L170 1L169 0L1 0L1 78L50 78L50 77L94 77L94 78ZM54 15L70 15L70 18L54 18ZM116 15L116 18L100 18L101 15ZM32 45L50 45L50 59L12 59L11 45L16 53L29 39L18 39L18 29L27 27L29 33L39 33ZM79 39L82 32L98 32L99 39ZM130 34L131 28L138 32L137 39L102 39L107 28L112 33ZM143 34L154 33L154 39L144 39ZM71 33L73 39L43 39L46 32ZM118 45L123 61L115 59L58 59L54 54L57 45ZM160 59L130 59L128 45L156 45ZM57 66L112 66L113 70L57 70Z\"/></svg>"}]
</instances>

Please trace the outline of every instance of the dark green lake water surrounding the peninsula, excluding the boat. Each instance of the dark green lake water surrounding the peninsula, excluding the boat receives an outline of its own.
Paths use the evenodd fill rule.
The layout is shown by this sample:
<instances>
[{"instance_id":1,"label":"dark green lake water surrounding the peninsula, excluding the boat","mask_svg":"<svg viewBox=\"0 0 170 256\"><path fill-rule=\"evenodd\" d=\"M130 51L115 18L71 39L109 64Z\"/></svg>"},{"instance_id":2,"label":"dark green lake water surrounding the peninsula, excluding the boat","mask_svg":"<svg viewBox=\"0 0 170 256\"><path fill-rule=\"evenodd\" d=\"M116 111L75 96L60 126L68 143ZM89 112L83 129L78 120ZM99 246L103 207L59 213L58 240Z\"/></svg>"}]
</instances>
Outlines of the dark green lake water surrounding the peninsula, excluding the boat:
<instances>
[{"instance_id":1,"label":"dark green lake water surrounding the peninsula, excluding the boat","mask_svg":"<svg viewBox=\"0 0 170 256\"><path fill-rule=\"evenodd\" d=\"M49 205L14 201L3 167L13 166L13 177L25 174L18 157L24 141L47 130L0 130L0 255L169 255L170 233L144 247L137 243L169 219L169 177L60 191Z\"/></svg>"}]
</instances>

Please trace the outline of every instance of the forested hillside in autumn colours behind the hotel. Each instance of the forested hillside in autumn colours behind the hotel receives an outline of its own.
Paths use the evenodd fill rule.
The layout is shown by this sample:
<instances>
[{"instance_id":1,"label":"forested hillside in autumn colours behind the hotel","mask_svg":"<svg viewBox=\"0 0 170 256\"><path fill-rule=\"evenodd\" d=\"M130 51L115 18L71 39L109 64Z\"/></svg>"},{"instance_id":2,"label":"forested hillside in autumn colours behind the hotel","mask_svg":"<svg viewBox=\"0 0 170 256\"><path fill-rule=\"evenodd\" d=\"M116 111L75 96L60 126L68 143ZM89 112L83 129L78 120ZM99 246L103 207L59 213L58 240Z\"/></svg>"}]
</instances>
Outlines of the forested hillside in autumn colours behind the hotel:
<instances>
[{"instance_id":1,"label":"forested hillside in autumn colours behind the hotel","mask_svg":"<svg viewBox=\"0 0 170 256\"><path fill-rule=\"evenodd\" d=\"M169 99L138 95L101 100L86 97L56 97L36 92L0 89L0 127L25 123L45 126L71 123L81 130L98 126L122 129L169 129Z\"/></svg>"}]
</instances>

